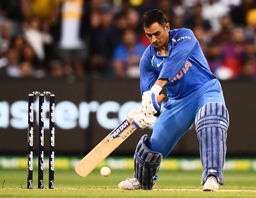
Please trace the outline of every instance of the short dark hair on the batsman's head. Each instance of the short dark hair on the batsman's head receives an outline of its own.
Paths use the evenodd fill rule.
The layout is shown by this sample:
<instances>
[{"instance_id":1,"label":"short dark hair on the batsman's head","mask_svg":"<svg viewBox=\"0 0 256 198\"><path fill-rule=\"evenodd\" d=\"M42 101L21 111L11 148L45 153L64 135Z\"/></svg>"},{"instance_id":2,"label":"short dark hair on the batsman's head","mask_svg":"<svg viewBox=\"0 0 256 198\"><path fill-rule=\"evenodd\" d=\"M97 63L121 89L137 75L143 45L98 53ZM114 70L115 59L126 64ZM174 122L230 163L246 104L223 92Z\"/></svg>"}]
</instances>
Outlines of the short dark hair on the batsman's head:
<instances>
[{"instance_id":1,"label":"short dark hair on the batsman's head","mask_svg":"<svg viewBox=\"0 0 256 198\"><path fill-rule=\"evenodd\" d=\"M143 27L149 27L151 24L157 22L162 26L165 26L167 23L166 17L161 10L154 9L147 11L142 15L141 22Z\"/></svg>"}]
</instances>

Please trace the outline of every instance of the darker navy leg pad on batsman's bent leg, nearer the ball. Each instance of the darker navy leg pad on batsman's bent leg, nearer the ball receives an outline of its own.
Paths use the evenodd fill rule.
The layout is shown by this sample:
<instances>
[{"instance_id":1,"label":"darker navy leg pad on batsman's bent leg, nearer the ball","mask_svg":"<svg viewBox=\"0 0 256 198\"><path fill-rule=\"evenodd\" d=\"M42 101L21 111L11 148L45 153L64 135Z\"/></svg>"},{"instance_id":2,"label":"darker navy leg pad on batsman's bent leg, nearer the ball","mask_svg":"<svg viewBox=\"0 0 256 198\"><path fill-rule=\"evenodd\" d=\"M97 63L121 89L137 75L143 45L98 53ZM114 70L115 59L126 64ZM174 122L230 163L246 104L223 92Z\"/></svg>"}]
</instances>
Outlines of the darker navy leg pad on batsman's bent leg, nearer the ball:
<instances>
[{"instance_id":1,"label":"darker navy leg pad on batsman's bent leg, nearer the ball","mask_svg":"<svg viewBox=\"0 0 256 198\"><path fill-rule=\"evenodd\" d=\"M134 177L140 182L142 189L152 188L153 179L163 160L163 155L149 150L147 143L147 135L142 136L134 155Z\"/></svg>"}]
</instances>

